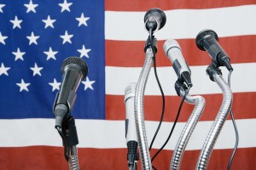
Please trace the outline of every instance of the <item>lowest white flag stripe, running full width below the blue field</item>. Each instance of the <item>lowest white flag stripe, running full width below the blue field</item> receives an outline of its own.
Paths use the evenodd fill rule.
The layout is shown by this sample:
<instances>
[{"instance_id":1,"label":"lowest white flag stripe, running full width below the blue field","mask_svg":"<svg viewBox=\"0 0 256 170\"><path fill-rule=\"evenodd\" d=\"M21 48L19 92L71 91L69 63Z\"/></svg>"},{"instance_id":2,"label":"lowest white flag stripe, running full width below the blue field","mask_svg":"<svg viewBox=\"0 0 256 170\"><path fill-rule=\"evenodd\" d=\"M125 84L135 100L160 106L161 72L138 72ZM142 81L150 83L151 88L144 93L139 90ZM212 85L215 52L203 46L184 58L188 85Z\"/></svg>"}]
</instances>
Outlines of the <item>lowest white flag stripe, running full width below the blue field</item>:
<instances>
[{"instance_id":1,"label":"lowest white flag stripe, running full width below the blue field","mask_svg":"<svg viewBox=\"0 0 256 170\"><path fill-rule=\"evenodd\" d=\"M215 113L212 113L215 114ZM238 113L243 114L243 113ZM166 150L173 150L183 129L184 122L178 122ZM240 134L239 148L256 147L256 119L236 120ZM0 147L31 145L61 146L61 137L55 130L54 119L0 120ZM76 120L80 148L126 148L125 121ZM151 141L158 122L146 122L148 140ZM199 122L192 134L187 150L201 150L212 121ZM163 122L154 148L165 142L172 122ZM235 132L231 121L226 121L214 149L231 149L235 144Z\"/></svg>"}]
</instances>

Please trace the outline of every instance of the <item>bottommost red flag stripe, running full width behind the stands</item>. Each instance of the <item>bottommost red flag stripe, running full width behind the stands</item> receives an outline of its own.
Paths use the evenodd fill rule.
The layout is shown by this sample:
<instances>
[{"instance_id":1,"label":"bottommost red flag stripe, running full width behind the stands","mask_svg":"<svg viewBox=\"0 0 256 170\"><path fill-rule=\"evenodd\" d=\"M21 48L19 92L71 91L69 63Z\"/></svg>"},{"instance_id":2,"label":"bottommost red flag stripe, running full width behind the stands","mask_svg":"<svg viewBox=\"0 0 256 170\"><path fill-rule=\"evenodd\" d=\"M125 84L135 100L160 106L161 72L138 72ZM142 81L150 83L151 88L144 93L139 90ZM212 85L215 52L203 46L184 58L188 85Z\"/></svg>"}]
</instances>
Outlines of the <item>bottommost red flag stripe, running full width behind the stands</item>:
<instances>
[{"instance_id":1,"label":"bottommost red flag stripe, running full width behind the stands","mask_svg":"<svg viewBox=\"0 0 256 170\"><path fill-rule=\"evenodd\" d=\"M156 150L151 151L151 156ZM50 146L31 146L0 148L1 170L68 170L63 148ZM80 169L127 169L124 149L79 148ZM213 150L207 170L226 169L232 150ZM185 151L181 169L195 169L200 150ZM232 170L256 169L256 148L238 149L232 163ZM162 150L153 162L157 169L169 169L172 150ZM109 158L112 158L111 160ZM141 169L141 163L138 163Z\"/></svg>"}]
</instances>

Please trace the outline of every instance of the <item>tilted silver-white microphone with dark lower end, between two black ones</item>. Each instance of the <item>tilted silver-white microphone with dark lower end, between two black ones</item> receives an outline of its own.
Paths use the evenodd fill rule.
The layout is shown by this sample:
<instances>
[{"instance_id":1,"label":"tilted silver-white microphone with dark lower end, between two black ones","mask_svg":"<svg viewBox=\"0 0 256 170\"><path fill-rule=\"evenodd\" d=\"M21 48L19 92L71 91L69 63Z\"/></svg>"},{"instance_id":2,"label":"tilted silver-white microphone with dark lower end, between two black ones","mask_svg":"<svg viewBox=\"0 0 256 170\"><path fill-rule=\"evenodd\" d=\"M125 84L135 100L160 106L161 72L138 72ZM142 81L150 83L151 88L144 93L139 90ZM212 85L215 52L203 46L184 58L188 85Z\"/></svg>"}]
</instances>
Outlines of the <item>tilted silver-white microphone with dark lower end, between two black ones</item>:
<instances>
[{"instance_id":1,"label":"tilted silver-white microphone with dark lower end, between two black ones","mask_svg":"<svg viewBox=\"0 0 256 170\"><path fill-rule=\"evenodd\" d=\"M168 39L164 43L164 51L168 59L172 61L173 69L177 77L181 78L189 87L192 87L191 71L183 58L180 46L176 40Z\"/></svg>"}]
</instances>

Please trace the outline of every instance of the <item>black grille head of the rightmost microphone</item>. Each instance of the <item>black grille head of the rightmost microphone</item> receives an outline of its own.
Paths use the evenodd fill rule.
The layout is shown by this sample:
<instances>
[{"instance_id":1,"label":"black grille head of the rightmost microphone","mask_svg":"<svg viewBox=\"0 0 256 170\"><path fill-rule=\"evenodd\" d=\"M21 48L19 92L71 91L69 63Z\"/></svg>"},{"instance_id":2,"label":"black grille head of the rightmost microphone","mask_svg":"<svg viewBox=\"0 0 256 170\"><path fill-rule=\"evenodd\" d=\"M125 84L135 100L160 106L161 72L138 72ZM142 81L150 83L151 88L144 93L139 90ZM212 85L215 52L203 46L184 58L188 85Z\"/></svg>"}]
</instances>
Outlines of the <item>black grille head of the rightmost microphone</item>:
<instances>
[{"instance_id":1,"label":"black grille head of the rightmost microphone","mask_svg":"<svg viewBox=\"0 0 256 170\"><path fill-rule=\"evenodd\" d=\"M204 41L209 37L212 37L216 39L216 41L218 41L217 33L215 31L207 29L199 32L195 37L196 46L200 48L202 51L206 51L206 49L204 48Z\"/></svg>"}]
</instances>

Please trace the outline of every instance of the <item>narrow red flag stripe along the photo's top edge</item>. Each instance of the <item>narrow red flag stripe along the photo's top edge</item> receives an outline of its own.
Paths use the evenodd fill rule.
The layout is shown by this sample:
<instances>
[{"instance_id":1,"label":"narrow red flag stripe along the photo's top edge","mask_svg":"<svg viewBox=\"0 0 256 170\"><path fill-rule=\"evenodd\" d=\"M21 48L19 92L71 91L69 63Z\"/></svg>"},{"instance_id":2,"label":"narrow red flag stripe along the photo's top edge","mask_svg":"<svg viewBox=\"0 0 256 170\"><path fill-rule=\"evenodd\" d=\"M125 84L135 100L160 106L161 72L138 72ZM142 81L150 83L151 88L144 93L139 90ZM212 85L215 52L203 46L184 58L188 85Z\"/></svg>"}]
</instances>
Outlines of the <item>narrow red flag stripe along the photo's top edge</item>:
<instances>
[{"instance_id":1,"label":"narrow red flag stripe along the photo's top edge","mask_svg":"<svg viewBox=\"0 0 256 170\"><path fill-rule=\"evenodd\" d=\"M233 1L204 1L204 0L161 0L161 1L119 1L108 0L105 3L105 9L109 11L148 11L150 8L160 8L162 10L171 10L177 8L222 8L234 7L239 5L255 4L254 0L233 0Z\"/></svg>"}]
</instances>

